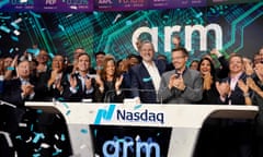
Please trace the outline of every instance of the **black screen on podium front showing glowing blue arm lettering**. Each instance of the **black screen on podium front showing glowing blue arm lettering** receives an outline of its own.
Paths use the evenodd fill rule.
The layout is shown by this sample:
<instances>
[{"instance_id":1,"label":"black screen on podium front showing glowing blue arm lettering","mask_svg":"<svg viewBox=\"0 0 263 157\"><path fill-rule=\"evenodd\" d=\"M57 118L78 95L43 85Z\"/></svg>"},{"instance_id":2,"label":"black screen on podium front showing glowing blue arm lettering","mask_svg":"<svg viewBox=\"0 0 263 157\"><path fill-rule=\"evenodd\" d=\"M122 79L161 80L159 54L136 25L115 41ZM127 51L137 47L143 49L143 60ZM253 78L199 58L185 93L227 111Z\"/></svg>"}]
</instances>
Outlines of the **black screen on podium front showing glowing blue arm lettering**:
<instances>
[{"instance_id":1,"label":"black screen on podium front showing glowing blue arm lettering","mask_svg":"<svg viewBox=\"0 0 263 157\"><path fill-rule=\"evenodd\" d=\"M171 128L91 125L95 156L167 157Z\"/></svg>"}]
</instances>

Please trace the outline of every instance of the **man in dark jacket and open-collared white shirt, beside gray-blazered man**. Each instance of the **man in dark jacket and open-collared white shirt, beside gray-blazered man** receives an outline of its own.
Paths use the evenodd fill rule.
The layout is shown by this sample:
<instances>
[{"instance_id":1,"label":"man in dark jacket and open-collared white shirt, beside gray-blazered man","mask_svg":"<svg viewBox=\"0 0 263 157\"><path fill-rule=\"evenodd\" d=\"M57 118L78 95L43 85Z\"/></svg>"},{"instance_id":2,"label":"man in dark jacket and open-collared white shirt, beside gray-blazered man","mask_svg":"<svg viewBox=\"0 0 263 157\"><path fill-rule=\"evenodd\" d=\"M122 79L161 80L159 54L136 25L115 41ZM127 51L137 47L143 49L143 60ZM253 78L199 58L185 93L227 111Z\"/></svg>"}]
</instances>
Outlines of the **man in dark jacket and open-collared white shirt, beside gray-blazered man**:
<instances>
[{"instance_id":1,"label":"man in dark jacket and open-collared white shirt, beside gray-blazered man","mask_svg":"<svg viewBox=\"0 0 263 157\"><path fill-rule=\"evenodd\" d=\"M132 93L137 102L159 102L157 92L160 86L161 74L165 71L165 62L153 60L155 48L146 40L139 48L141 63L130 69Z\"/></svg>"}]
</instances>

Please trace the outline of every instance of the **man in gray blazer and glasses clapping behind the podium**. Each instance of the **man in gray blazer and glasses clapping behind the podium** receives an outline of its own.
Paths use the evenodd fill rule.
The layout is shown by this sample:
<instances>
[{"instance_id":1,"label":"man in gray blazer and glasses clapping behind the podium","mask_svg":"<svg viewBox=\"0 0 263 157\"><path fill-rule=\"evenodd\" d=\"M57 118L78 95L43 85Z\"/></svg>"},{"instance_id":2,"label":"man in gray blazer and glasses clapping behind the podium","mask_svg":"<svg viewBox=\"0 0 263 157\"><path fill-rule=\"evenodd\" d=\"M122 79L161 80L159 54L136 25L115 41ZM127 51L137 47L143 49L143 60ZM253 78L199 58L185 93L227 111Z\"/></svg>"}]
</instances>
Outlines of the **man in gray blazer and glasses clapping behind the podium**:
<instances>
[{"instance_id":1,"label":"man in gray blazer and glasses clapping behind the podium","mask_svg":"<svg viewBox=\"0 0 263 157\"><path fill-rule=\"evenodd\" d=\"M186 68L185 48L172 50L174 70L162 74L158 97L161 102L193 104L202 99L203 81L198 71Z\"/></svg>"}]
</instances>

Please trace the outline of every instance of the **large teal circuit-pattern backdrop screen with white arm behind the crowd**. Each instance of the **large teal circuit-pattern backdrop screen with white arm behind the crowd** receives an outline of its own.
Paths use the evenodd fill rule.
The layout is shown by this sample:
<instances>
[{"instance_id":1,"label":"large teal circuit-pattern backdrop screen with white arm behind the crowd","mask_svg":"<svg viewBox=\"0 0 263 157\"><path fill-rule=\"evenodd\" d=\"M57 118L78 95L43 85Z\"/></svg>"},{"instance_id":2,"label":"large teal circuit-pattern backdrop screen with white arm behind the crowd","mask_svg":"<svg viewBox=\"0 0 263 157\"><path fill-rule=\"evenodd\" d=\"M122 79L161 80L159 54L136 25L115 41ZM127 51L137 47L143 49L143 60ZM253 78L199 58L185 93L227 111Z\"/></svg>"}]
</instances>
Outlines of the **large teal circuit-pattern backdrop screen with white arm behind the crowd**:
<instances>
[{"instance_id":1,"label":"large teal circuit-pattern backdrop screen with white arm behind the crowd","mask_svg":"<svg viewBox=\"0 0 263 157\"><path fill-rule=\"evenodd\" d=\"M199 8L115 12L1 12L1 55L23 53L32 45L50 56L72 57L83 47L123 59L137 53L135 43L153 40L157 53L170 58L176 34L190 50L190 61L213 48L252 57L261 47L263 2ZM170 39L170 40L169 40Z\"/></svg>"}]
</instances>

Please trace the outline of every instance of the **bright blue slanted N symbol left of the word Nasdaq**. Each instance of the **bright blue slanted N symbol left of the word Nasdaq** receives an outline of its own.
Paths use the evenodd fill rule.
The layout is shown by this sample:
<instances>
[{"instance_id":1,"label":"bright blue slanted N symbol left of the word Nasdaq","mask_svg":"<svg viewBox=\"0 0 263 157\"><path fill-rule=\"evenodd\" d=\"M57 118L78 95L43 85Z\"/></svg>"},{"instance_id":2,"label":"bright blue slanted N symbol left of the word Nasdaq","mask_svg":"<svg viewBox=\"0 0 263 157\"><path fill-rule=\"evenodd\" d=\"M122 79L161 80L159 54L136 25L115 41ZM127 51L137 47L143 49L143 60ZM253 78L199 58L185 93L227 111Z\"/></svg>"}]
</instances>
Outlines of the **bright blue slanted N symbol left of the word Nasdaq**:
<instances>
[{"instance_id":1,"label":"bright blue slanted N symbol left of the word Nasdaq","mask_svg":"<svg viewBox=\"0 0 263 157\"><path fill-rule=\"evenodd\" d=\"M107 110L106 109L99 109L98 113L96 113L96 117L95 117L94 124L100 124L103 119L104 120L112 120L115 107L116 107L116 105L110 105Z\"/></svg>"}]
</instances>

